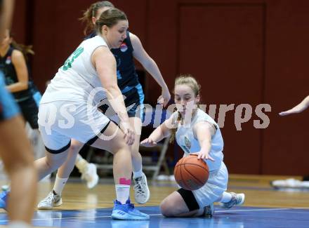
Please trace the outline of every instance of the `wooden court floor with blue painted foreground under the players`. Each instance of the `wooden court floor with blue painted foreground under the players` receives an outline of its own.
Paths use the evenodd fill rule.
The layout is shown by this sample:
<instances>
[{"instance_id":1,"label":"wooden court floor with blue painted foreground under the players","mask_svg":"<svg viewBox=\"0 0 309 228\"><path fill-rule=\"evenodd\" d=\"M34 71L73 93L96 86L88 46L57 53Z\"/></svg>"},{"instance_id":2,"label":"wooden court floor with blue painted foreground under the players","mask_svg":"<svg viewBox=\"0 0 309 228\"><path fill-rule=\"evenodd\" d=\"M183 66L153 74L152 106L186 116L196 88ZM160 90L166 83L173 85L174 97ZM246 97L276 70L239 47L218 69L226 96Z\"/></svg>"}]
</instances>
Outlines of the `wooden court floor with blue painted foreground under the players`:
<instances>
[{"instance_id":1,"label":"wooden court floor with blue painted foreground under the players","mask_svg":"<svg viewBox=\"0 0 309 228\"><path fill-rule=\"evenodd\" d=\"M159 203L164 199L164 197L177 189L176 183L169 181L152 182L149 180L148 185L151 192L150 201L143 205L140 210L145 213L150 213L150 224L147 224L147 226L145 226L145 224L137 223L135 227L182 227L177 224L176 221L182 221L180 222L180 224L182 225L184 223L188 224L188 226L185 227L190 227L192 221L199 221L199 223L195 224L195 227L268 227L263 226L263 223L258 224L257 226L255 225L255 223L252 223L248 226L247 222L252 220L250 219L250 216L251 218L256 217L256 219L258 219L258 222L261 222L261 218L259 218L258 216L262 215L251 213L250 215L248 214L249 218L244 218L244 212L263 210L265 216L267 217L270 216L269 211L273 209L278 210L277 213L279 213L274 215L275 217L281 216L287 218L287 215L291 215L291 213L293 213L294 216L301 215L301 218L299 218L299 220L301 220L302 223L294 227L309 227L309 191L277 191L270 186L271 180L285 178L287 177L230 175L228 191L244 193L246 195L246 201L244 203L244 206L235 207L235 210L234 208L233 210L230 210L231 212L236 212L235 215L230 212L225 212L224 210L218 209L218 206L215 206L216 210L218 209L218 217L216 217L217 215L215 213L216 216L214 216L213 220L211 220L212 223L209 223L210 220L199 220L197 218L191 218L189 220L185 220L183 218L164 219L164 217L162 217L162 215L160 215L159 213L158 206ZM48 192L50 192L52 187L53 181L51 183L39 183L39 194L37 200L39 201L43 199L48 194ZM79 225L77 224L83 224L82 227L84 227L84 224L86 224L87 227L103 227L101 224L105 224L104 227L126 227L124 226L124 224L126 223L119 223L117 225L113 225L114 223L112 223L110 219L110 213L114 199L115 194L113 180L100 180L100 183L97 187L95 187L94 189L87 189L86 185L83 182L81 182L79 179L74 179L67 183L65 190L63 191L63 205L49 212L45 210L37 211L34 215L34 225L36 227L79 227ZM131 188L131 200L134 203L133 187ZM283 215L280 212L280 210L284 210L285 213L288 213L288 209L293 210L289 211L289 214L287 215ZM242 212L242 216L239 216L240 214L238 215L237 211L239 213ZM47 215L50 217L48 218ZM81 220L80 216L85 218L87 221L91 217L95 220L95 222L91 220L92 222L90 222L89 224L83 223L85 221ZM226 219L227 216L228 218L230 218L230 220ZM242 217L242 219L240 219L240 217ZM73 222L64 222L64 219L67 219L67 221L69 221L70 219ZM238 221L238 219L240 219L240 221ZM62 222L59 222L60 220L62 220ZM231 221L232 223L230 224ZM4 212L4 210L1 210L0 224L5 225L6 223L6 213ZM162 224L164 225L162 226ZM287 226L287 224L288 223L284 222L283 220L282 225L276 225L273 227L289 227Z\"/></svg>"}]
</instances>

